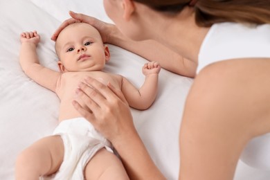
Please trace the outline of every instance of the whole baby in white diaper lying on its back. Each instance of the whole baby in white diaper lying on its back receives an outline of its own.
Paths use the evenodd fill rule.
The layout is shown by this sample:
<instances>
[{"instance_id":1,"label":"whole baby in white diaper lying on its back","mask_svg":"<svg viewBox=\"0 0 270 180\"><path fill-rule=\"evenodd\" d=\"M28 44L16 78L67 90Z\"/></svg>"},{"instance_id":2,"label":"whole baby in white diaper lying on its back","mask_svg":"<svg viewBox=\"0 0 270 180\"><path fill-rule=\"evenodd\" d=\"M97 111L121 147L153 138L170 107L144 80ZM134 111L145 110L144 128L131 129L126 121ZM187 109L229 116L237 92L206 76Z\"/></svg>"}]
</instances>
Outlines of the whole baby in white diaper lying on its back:
<instances>
[{"instance_id":1,"label":"whole baby in white diaper lying on its back","mask_svg":"<svg viewBox=\"0 0 270 180\"><path fill-rule=\"evenodd\" d=\"M78 84L91 77L120 89L130 107L147 109L156 98L161 67L157 62L143 66L145 82L140 89L122 75L105 73L102 69L109 61L109 48L96 28L76 23L64 28L57 37L55 51L60 72L53 71L39 64L39 39L36 31L21 33L19 61L29 78L60 98L59 125L53 136L40 139L19 154L16 179L39 179L51 174L61 180L129 179L109 141L82 118L72 101Z\"/></svg>"}]
</instances>

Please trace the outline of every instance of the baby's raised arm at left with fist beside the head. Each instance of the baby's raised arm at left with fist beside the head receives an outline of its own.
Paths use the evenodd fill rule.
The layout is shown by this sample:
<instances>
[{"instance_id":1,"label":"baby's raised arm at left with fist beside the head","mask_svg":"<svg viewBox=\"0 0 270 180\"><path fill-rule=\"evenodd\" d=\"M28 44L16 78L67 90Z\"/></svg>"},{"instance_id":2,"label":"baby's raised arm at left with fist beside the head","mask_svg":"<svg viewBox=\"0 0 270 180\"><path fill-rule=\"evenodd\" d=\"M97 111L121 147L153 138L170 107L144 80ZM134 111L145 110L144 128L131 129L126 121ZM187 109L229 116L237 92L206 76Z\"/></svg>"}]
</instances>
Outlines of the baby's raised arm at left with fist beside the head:
<instances>
[{"instance_id":1,"label":"baby's raised arm at left with fist beside the head","mask_svg":"<svg viewBox=\"0 0 270 180\"><path fill-rule=\"evenodd\" d=\"M60 73L39 64L36 49L40 36L37 34L37 31L21 33L20 39L19 62L24 73L43 87L55 91Z\"/></svg>"}]
</instances>

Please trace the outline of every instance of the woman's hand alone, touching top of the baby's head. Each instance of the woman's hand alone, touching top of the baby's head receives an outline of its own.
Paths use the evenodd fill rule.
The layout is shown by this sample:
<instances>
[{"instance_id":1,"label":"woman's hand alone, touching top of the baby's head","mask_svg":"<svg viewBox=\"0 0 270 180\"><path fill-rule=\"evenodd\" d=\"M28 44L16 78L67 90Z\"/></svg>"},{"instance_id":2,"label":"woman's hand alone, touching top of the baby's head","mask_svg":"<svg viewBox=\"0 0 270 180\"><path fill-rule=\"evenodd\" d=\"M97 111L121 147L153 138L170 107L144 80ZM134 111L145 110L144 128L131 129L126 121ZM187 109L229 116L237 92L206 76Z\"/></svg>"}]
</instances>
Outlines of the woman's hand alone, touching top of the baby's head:
<instances>
[{"instance_id":1,"label":"woman's hand alone, touching top of the baby's head","mask_svg":"<svg viewBox=\"0 0 270 180\"><path fill-rule=\"evenodd\" d=\"M55 30L55 33L51 37L51 39L53 41L55 41L57 39L60 32L64 28L66 28L66 26L69 26L69 24L73 24L76 22L84 22L84 23L90 24L91 26L95 27L99 31L99 33L102 37L102 41L104 43L114 44L111 42L114 40L114 38L111 38L111 35L116 35L116 34L120 33L120 31L118 30L118 28L116 28L116 26L114 24L105 23L103 21L100 21L99 19L96 19L95 17L90 17L87 15L75 13L72 11L69 11L69 15L71 15L72 18L66 19L66 21L64 21L60 25L60 27L57 28L57 30Z\"/></svg>"}]
</instances>

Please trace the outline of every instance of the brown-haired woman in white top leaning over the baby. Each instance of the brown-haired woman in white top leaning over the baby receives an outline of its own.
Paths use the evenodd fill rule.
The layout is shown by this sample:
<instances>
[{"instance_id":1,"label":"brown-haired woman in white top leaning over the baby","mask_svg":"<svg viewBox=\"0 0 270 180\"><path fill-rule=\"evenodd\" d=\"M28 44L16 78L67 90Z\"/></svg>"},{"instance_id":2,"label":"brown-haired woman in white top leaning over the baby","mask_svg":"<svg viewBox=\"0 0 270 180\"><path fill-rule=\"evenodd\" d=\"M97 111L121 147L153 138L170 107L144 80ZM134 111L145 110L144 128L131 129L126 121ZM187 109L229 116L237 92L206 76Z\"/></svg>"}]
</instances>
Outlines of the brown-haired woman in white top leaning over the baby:
<instances>
[{"instance_id":1,"label":"brown-haired woman in white top leaning over the baby","mask_svg":"<svg viewBox=\"0 0 270 180\"><path fill-rule=\"evenodd\" d=\"M67 24L84 21L100 30L104 42L195 77L179 134L179 179L233 179L246 143L270 132L270 44L262 40L269 39L270 2L104 0L104 6L117 28L71 12L73 19L52 39ZM250 37L256 37L252 43ZM152 55L151 48L160 48L160 54ZM91 79L87 84L93 88L83 84L79 97L91 111L77 101L73 105L113 143L129 176L165 179L139 138L123 95L110 84Z\"/></svg>"}]
</instances>

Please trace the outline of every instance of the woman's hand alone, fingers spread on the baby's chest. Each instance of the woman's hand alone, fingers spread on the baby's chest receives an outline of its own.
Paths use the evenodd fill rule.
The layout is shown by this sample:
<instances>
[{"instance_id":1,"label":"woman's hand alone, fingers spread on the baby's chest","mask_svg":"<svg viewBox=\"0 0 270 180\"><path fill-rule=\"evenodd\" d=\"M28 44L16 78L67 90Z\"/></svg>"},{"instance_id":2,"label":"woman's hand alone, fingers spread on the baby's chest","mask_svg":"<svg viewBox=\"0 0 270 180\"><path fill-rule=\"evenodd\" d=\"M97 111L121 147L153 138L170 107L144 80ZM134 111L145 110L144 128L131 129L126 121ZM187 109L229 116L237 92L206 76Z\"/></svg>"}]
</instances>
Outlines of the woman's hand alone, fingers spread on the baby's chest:
<instances>
[{"instance_id":1,"label":"woman's hand alone, fingers spread on the baby's chest","mask_svg":"<svg viewBox=\"0 0 270 180\"><path fill-rule=\"evenodd\" d=\"M123 93L111 84L107 86L93 78L81 82L73 101L75 109L111 143L119 143L129 133L136 132L129 105ZM80 102L86 107L83 107Z\"/></svg>"}]
</instances>

